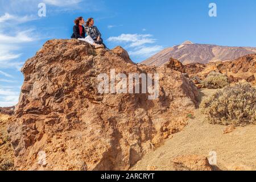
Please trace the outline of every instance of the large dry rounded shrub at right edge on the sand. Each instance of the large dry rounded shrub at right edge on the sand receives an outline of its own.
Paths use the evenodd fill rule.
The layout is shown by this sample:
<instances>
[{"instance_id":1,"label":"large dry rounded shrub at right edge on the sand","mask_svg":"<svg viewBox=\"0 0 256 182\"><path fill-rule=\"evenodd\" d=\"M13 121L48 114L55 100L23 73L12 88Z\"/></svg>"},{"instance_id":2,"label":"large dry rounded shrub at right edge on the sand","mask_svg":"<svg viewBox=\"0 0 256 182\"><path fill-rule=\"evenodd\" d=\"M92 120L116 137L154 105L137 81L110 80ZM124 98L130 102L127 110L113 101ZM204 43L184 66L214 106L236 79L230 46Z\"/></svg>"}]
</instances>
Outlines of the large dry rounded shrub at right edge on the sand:
<instances>
[{"instance_id":1,"label":"large dry rounded shrub at right edge on the sand","mask_svg":"<svg viewBox=\"0 0 256 182\"><path fill-rule=\"evenodd\" d=\"M249 83L226 86L201 102L210 123L256 124L256 89Z\"/></svg>"}]
</instances>

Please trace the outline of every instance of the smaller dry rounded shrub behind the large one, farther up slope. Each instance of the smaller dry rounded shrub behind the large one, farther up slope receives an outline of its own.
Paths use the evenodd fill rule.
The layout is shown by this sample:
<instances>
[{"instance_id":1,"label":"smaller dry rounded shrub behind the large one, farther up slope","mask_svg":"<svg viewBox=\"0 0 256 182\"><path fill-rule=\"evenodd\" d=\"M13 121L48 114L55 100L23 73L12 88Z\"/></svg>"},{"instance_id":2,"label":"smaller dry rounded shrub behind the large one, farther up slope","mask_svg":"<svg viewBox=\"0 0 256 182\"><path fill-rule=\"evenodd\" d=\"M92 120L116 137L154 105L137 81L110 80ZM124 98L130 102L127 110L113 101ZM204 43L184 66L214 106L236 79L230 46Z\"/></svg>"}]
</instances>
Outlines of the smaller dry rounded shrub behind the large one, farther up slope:
<instances>
[{"instance_id":1,"label":"smaller dry rounded shrub behind the large one, farther up slope","mask_svg":"<svg viewBox=\"0 0 256 182\"><path fill-rule=\"evenodd\" d=\"M228 77L221 73L209 73L207 78L202 82L204 88L208 89L221 89L229 85Z\"/></svg>"}]
</instances>

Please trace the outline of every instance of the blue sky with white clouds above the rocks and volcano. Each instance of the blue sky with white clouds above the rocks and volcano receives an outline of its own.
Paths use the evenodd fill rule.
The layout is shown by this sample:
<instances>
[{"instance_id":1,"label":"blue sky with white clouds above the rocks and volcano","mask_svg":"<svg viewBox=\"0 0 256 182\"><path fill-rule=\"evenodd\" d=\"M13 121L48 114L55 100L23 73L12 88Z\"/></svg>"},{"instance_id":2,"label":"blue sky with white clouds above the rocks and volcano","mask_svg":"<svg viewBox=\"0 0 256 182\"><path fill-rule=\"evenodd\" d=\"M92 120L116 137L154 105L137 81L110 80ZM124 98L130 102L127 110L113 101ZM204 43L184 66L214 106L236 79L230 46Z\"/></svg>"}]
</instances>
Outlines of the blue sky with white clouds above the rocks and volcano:
<instances>
[{"instance_id":1,"label":"blue sky with white clouds above the rocks and volcano","mask_svg":"<svg viewBox=\"0 0 256 182\"><path fill-rule=\"evenodd\" d=\"M208 15L212 2L217 17ZM18 102L24 61L47 40L70 38L77 16L92 16L106 45L138 63L185 40L256 47L255 10L255 0L0 0L0 106Z\"/></svg>"}]
</instances>

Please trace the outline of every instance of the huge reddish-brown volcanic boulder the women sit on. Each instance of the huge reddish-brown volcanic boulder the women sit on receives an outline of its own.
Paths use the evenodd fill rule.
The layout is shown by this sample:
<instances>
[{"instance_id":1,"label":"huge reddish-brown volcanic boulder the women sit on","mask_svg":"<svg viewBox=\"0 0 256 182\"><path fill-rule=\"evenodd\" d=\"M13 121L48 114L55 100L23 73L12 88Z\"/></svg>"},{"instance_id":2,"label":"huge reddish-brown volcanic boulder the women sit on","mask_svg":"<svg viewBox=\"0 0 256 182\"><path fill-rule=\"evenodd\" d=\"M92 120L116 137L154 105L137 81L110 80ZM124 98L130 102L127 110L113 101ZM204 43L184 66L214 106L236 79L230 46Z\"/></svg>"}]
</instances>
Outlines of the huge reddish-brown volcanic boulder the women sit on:
<instances>
[{"instance_id":1,"label":"huge reddish-brown volcanic boulder the women sit on","mask_svg":"<svg viewBox=\"0 0 256 182\"><path fill-rule=\"evenodd\" d=\"M97 76L159 73L159 97L99 94ZM133 63L121 47L94 49L79 40L49 40L22 68L24 84L9 126L18 169L129 169L183 129L198 94L167 67Z\"/></svg>"}]
</instances>

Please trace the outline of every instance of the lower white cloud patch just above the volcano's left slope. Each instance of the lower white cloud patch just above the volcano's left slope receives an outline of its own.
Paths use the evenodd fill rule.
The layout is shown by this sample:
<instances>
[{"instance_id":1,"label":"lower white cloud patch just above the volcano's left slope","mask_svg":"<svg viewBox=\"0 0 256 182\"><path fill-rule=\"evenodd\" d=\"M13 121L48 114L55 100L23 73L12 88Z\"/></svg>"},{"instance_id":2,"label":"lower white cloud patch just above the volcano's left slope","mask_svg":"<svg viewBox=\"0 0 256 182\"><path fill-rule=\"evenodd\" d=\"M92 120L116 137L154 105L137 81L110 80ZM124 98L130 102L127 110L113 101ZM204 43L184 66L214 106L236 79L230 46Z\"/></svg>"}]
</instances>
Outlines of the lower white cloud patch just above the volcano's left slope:
<instances>
[{"instance_id":1,"label":"lower white cloud patch just above the volcano's left slope","mask_svg":"<svg viewBox=\"0 0 256 182\"><path fill-rule=\"evenodd\" d=\"M151 46L151 47L141 47L134 51L129 51L131 56L152 56L155 53L163 49L163 46Z\"/></svg>"}]
</instances>

